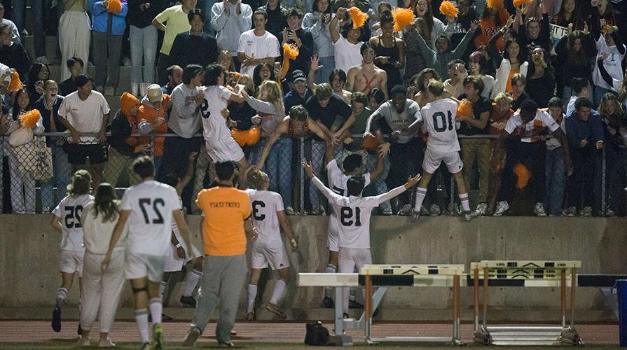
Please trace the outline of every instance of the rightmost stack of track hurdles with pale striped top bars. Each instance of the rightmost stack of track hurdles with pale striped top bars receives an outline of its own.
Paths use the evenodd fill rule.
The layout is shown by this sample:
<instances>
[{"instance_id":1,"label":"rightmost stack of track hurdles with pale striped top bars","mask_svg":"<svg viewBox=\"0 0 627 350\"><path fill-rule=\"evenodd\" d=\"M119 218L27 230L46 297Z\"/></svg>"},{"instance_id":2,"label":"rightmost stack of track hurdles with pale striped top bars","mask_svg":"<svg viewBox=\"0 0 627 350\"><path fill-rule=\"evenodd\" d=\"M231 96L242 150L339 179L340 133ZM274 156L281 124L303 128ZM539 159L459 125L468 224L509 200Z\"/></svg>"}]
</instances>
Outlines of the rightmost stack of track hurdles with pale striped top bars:
<instances>
[{"instance_id":1,"label":"rightmost stack of track hurdles with pale striped top bars","mask_svg":"<svg viewBox=\"0 0 627 350\"><path fill-rule=\"evenodd\" d=\"M484 345L571 345L583 344L574 329L577 269L581 261L481 260L471 262L474 286L474 340ZM483 280L479 324L479 280ZM518 283L512 283L518 282ZM523 282L521 285L520 282ZM488 286L560 286L559 326L492 326L488 327ZM570 324L566 324L566 288L570 286ZM499 334L498 339L495 339Z\"/></svg>"}]
</instances>

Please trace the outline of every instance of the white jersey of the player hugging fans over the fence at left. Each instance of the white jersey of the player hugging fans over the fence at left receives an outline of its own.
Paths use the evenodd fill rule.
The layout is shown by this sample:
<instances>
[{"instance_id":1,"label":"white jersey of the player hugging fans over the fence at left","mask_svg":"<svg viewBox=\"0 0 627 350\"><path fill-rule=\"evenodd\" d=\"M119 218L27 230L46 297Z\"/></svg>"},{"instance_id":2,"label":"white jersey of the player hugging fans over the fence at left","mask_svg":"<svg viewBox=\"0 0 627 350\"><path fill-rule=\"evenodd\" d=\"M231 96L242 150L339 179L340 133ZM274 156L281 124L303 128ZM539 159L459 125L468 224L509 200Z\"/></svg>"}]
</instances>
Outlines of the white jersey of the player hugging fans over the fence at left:
<instances>
[{"instance_id":1,"label":"white jersey of the player hugging fans over the fence at left","mask_svg":"<svg viewBox=\"0 0 627 350\"><path fill-rule=\"evenodd\" d=\"M233 92L222 85L205 88L205 101L202 102L200 110L202 136L205 137L205 141L210 143L231 137L226 120L220 114L220 111L226 109L231 94Z\"/></svg>"}]
</instances>

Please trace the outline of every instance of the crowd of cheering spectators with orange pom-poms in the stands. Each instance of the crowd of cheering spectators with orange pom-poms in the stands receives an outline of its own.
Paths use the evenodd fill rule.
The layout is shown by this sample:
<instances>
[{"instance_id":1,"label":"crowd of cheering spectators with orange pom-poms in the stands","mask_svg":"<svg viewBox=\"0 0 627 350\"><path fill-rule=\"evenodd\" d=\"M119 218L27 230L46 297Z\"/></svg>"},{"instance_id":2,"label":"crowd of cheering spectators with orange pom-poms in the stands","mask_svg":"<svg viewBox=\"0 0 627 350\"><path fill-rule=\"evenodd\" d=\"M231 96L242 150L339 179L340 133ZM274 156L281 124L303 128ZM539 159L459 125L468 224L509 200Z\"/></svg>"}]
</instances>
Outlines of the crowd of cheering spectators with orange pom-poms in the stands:
<instances>
[{"instance_id":1,"label":"crowd of cheering spectators with orange pom-poms in the stands","mask_svg":"<svg viewBox=\"0 0 627 350\"><path fill-rule=\"evenodd\" d=\"M245 134L237 138L246 155L240 165L266 170L287 214L294 214L299 190L298 140L305 139L304 155L318 177L329 147L338 160L362 155L363 172L382 157L383 172L366 189L372 194L421 172L428 135L401 132L431 101L427 83L434 78L448 97L471 106L448 123L460 135L464 180L477 193L474 210L503 215L520 197L516 189L528 188L538 216L626 215L627 1L458 0L455 16L441 13L441 3L1 1L4 210L34 213L41 187L41 211L50 211L64 196L70 169L85 164L94 188L104 181L115 186L144 154L153 155L158 179L186 176L195 162L195 181L183 193L185 206L195 210L191 198L211 178L198 135L208 143L212 134L202 130L208 118L202 111L206 85L214 85L205 70L217 63L224 85L237 92L221 116L234 135ZM368 15L364 25L350 8ZM397 8L413 11L413 21L398 28ZM25 28L25 18L32 27ZM47 56L50 32L58 38L57 57ZM296 58L284 58L296 49ZM120 79L125 61L128 86L120 85L129 80ZM60 64L56 76L53 62ZM85 73L91 65L93 78ZM110 110L117 99L120 108ZM523 104L546 114L525 118ZM33 109L41 113L29 127L34 140L67 133L46 136L54 169L48 179L25 172L21 164L32 154L9 143L23 128L20 116ZM555 136L554 123L565 138ZM154 136L165 133L174 137ZM374 136L375 146L362 144L362 135ZM424 214L459 214L446 169L434 179ZM305 196L301 210L325 213L314 186L298 196ZM407 193L378 213L410 215L411 209Z\"/></svg>"}]
</instances>

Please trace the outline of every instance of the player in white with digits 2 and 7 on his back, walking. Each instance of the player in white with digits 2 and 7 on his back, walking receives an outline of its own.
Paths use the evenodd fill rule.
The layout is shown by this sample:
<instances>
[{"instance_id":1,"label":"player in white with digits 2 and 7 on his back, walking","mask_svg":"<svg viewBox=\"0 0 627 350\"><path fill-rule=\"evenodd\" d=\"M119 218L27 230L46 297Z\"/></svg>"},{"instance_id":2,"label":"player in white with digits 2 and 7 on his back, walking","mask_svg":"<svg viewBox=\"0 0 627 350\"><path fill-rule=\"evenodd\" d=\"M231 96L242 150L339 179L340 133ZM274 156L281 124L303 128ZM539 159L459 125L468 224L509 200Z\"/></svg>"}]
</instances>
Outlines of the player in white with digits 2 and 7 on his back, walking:
<instances>
[{"instance_id":1,"label":"player in white with digits 2 and 7 on his back, walking","mask_svg":"<svg viewBox=\"0 0 627 350\"><path fill-rule=\"evenodd\" d=\"M172 218L187 246L191 246L189 230L181 211L177 190L154 180L155 168L151 158L138 158L133 162L132 169L142 182L128 188L122 197L120 218L111 235L102 268L109 266L113 247L128 221L125 278L130 279L135 298L135 321L142 337L142 349L163 349L163 305L159 296L159 283L163 276L165 257L170 249ZM148 302L153 322L152 344L148 330Z\"/></svg>"}]
</instances>

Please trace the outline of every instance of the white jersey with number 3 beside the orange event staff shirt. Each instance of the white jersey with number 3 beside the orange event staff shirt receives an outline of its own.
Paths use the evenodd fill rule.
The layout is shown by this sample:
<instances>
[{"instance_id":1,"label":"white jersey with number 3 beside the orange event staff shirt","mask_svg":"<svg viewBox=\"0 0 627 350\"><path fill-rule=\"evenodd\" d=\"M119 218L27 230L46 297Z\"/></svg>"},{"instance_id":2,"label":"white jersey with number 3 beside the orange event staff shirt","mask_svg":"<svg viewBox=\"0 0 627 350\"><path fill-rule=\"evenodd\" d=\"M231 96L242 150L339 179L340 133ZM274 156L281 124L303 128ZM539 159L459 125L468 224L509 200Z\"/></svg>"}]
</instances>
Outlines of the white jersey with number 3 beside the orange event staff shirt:
<instances>
[{"instance_id":1,"label":"white jersey with number 3 beside the orange event staff shirt","mask_svg":"<svg viewBox=\"0 0 627 350\"><path fill-rule=\"evenodd\" d=\"M283 211L281 195L272 191L246 190L252 204L252 219L259 237L264 243L280 243L281 230L277 211Z\"/></svg>"}]
</instances>

